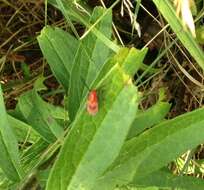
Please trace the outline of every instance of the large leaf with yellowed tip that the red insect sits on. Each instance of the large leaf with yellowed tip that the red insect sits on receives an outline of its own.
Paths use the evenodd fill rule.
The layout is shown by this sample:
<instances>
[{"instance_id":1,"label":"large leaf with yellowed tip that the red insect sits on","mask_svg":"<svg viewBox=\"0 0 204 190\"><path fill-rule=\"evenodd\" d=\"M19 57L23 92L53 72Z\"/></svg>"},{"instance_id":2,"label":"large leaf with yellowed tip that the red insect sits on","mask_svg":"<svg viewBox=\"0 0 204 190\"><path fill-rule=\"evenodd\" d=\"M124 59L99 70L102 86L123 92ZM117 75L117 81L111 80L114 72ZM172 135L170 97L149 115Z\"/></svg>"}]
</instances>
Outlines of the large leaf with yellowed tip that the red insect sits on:
<instances>
[{"instance_id":1,"label":"large leaf with yellowed tip that the red insect sits on","mask_svg":"<svg viewBox=\"0 0 204 190\"><path fill-rule=\"evenodd\" d=\"M96 116L86 111L84 99L47 189L91 189L118 156L137 111L137 91L128 81L128 75L116 64L100 84L106 86L101 89Z\"/></svg>"}]
</instances>

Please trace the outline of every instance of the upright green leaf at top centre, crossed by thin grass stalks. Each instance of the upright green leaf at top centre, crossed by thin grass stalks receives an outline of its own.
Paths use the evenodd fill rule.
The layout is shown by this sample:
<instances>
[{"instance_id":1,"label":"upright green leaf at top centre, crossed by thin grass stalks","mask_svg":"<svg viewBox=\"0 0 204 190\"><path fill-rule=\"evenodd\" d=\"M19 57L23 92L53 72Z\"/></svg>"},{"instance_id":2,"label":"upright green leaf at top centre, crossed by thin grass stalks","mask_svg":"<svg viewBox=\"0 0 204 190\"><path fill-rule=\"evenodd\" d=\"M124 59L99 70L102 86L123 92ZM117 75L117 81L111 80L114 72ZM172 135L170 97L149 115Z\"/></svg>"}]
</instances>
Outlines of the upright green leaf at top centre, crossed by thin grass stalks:
<instances>
[{"instance_id":1,"label":"upright green leaf at top centre, crossed by thin grass stalks","mask_svg":"<svg viewBox=\"0 0 204 190\"><path fill-rule=\"evenodd\" d=\"M104 14L105 11L106 10L102 7L96 7L92 13L89 23L94 24L97 19ZM94 28L97 28L98 31L103 33L106 38L111 39L112 13L109 11ZM112 51L107 48L105 44L93 34L93 32L90 32L82 40L82 44L89 59L88 74L82 74L83 76L86 76L86 82L89 85L96 78L96 75L99 73L99 70L107 61L108 56L110 55L110 53L112 53Z\"/></svg>"}]
</instances>

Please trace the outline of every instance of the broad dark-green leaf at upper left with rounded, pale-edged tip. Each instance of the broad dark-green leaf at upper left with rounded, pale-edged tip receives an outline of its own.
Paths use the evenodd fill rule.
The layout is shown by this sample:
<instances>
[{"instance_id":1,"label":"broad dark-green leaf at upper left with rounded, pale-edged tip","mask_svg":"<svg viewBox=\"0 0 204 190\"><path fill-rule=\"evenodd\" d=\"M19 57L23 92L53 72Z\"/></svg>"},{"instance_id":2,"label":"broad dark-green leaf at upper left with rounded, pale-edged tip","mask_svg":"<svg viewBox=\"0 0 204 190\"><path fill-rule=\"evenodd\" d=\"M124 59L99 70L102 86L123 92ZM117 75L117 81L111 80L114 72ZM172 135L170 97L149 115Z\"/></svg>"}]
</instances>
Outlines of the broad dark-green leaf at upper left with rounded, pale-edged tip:
<instances>
[{"instance_id":1,"label":"broad dark-green leaf at upper left with rounded, pale-edged tip","mask_svg":"<svg viewBox=\"0 0 204 190\"><path fill-rule=\"evenodd\" d=\"M69 33L50 26L44 27L37 39L52 72L67 91L78 41Z\"/></svg>"}]
</instances>

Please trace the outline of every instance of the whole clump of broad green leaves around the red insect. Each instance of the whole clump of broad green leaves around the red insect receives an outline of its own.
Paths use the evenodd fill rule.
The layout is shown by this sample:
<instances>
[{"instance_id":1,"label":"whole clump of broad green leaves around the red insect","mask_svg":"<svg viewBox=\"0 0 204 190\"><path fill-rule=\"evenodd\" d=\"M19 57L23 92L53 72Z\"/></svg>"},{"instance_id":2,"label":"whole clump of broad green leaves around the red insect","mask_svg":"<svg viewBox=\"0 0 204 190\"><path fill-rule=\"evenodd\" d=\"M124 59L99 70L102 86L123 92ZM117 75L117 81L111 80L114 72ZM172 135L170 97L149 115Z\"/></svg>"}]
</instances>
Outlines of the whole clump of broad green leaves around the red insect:
<instances>
[{"instance_id":1,"label":"whole clump of broad green leaves around the red insect","mask_svg":"<svg viewBox=\"0 0 204 190\"><path fill-rule=\"evenodd\" d=\"M44 78L36 80L9 114L0 89L0 189L20 189L33 174L47 190L203 189L202 180L172 175L167 168L203 143L204 108L167 120L170 104L161 89L159 100L141 110L142 95L132 78L144 66L147 49L119 48L111 42L109 9L96 8L87 19L59 0L51 3L67 20L78 18L87 30L94 27L81 40L50 26L38 36L65 89L68 109L40 97ZM86 108L85 84L97 92L94 116ZM20 151L16 139L23 142Z\"/></svg>"}]
</instances>

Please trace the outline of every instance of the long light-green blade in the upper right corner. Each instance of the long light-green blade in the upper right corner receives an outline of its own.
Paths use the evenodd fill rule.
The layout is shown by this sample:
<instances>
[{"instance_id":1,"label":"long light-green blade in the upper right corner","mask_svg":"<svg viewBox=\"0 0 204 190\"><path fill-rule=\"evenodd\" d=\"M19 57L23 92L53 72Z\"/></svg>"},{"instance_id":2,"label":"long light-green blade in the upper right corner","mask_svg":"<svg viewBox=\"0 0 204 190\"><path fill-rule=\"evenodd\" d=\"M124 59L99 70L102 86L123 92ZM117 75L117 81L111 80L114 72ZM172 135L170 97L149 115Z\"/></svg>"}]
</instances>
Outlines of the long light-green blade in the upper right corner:
<instances>
[{"instance_id":1,"label":"long light-green blade in the upper right corner","mask_svg":"<svg viewBox=\"0 0 204 190\"><path fill-rule=\"evenodd\" d=\"M184 29L181 19L176 15L172 2L169 0L153 0L153 2L176 33L179 40L204 70L204 53L192 34Z\"/></svg>"}]
</instances>

